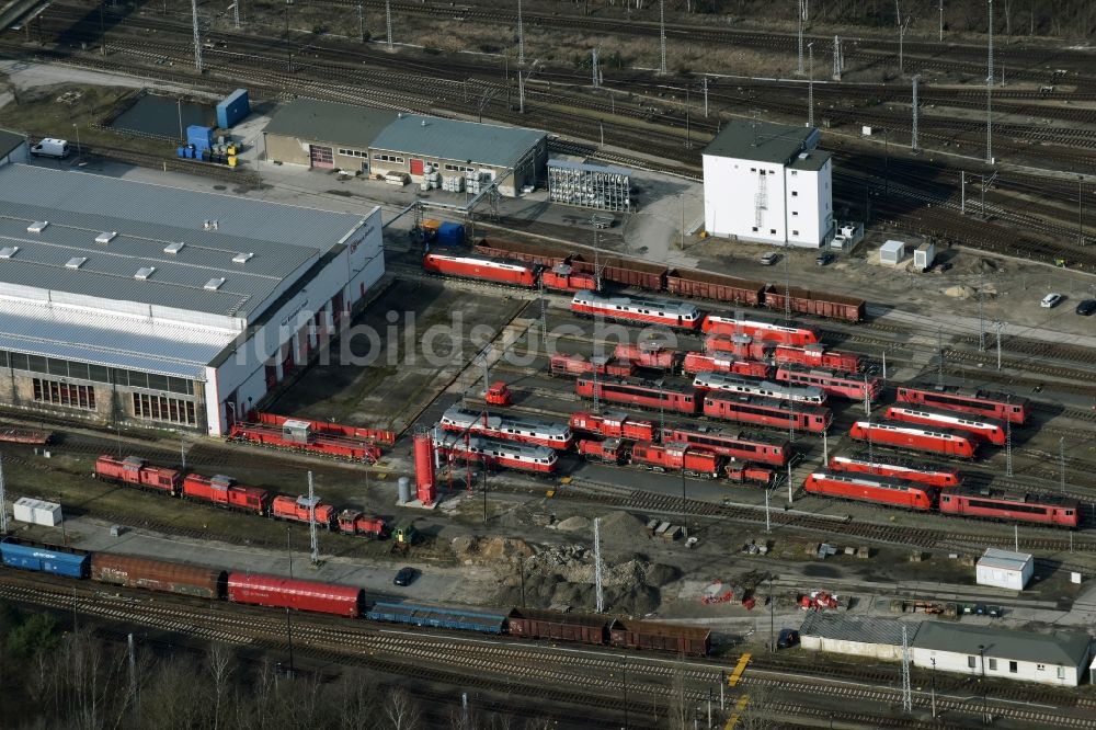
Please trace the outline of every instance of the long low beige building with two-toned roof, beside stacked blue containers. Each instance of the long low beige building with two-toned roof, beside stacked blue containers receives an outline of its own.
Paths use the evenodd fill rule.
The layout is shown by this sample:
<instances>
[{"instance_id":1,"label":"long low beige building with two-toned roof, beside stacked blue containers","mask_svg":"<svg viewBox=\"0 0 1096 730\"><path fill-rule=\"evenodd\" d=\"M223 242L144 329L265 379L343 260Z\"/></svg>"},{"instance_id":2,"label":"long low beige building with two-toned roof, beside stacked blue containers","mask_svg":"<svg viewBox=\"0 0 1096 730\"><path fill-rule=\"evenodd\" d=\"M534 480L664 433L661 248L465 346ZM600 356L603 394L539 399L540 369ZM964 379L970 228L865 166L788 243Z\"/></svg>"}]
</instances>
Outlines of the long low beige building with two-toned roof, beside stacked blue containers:
<instances>
[{"instance_id":1,"label":"long low beige building with two-toned roof, beside stacked blue containers","mask_svg":"<svg viewBox=\"0 0 1096 730\"><path fill-rule=\"evenodd\" d=\"M538 129L397 113L296 99L278 107L265 132L266 159L317 169L499 180L516 195L545 178L548 136Z\"/></svg>"}]
</instances>

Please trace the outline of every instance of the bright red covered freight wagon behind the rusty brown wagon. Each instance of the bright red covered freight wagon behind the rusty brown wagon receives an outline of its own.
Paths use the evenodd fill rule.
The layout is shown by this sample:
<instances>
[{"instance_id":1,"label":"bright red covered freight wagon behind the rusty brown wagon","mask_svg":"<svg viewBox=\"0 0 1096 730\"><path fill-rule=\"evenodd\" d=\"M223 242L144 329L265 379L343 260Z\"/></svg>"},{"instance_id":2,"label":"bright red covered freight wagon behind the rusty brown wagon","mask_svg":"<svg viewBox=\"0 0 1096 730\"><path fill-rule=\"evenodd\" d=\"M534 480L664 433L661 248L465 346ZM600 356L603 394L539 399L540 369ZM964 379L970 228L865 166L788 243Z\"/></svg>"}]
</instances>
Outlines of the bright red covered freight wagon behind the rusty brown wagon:
<instances>
[{"instance_id":1,"label":"bright red covered freight wagon behind the rusty brown wagon","mask_svg":"<svg viewBox=\"0 0 1096 730\"><path fill-rule=\"evenodd\" d=\"M252 606L296 608L357 618L365 603L362 589L279 575L229 573L228 600Z\"/></svg>"}]
</instances>

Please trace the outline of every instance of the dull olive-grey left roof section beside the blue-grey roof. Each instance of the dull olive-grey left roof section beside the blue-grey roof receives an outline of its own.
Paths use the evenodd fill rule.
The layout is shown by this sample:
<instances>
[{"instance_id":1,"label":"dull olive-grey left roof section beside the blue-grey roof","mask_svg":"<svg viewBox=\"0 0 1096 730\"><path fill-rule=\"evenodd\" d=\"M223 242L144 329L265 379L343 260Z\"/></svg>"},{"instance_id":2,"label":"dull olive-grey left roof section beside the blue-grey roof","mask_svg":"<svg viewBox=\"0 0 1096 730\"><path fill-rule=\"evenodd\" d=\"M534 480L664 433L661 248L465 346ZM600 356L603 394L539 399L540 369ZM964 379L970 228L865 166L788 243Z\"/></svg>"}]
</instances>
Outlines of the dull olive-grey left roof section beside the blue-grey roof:
<instances>
[{"instance_id":1,"label":"dull olive-grey left roof section beside the blue-grey roof","mask_svg":"<svg viewBox=\"0 0 1096 730\"><path fill-rule=\"evenodd\" d=\"M265 132L368 149L374 137L396 118L396 112L384 109L295 99L278 106Z\"/></svg>"}]
</instances>

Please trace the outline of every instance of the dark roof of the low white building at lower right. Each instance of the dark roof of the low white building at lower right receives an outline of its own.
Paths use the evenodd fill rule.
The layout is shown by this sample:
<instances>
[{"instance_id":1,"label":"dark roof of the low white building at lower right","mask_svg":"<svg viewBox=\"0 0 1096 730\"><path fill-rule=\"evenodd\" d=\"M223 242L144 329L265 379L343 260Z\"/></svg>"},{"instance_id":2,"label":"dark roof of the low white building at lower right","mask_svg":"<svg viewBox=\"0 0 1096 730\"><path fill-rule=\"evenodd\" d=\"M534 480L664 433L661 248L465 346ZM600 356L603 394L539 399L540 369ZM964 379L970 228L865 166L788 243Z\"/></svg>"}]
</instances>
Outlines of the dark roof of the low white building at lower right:
<instances>
[{"instance_id":1,"label":"dark roof of the low white building at lower right","mask_svg":"<svg viewBox=\"0 0 1096 730\"><path fill-rule=\"evenodd\" d=\"M971 624L925 621L914 648L977 655L979 647L994 659L1078 666L1088 657L1092 637L1076 631L1032 634Z\"/></svg>"}]
</instances>

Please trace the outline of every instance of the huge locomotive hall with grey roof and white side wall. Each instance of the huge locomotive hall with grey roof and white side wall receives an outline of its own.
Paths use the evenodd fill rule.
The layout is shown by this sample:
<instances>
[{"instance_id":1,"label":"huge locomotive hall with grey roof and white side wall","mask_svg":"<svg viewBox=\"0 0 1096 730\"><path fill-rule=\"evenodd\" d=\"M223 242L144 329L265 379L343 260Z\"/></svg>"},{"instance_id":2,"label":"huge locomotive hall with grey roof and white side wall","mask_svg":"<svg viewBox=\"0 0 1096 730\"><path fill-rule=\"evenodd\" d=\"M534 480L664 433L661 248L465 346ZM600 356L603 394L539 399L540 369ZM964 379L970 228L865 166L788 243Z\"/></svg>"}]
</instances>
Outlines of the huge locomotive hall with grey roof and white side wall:
<instances>
[{"instance_id":1,"label":"huge locomotive hall with grey roof and white side wall","mask_svg":"<svg viewBox=\"0 0 1096 730\"><path fill-rule=\"evenodd\" d=\"M0 168L0 402L225 433L384 273L365 216Z\"/></svg>"}]
</instances>

